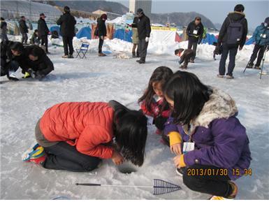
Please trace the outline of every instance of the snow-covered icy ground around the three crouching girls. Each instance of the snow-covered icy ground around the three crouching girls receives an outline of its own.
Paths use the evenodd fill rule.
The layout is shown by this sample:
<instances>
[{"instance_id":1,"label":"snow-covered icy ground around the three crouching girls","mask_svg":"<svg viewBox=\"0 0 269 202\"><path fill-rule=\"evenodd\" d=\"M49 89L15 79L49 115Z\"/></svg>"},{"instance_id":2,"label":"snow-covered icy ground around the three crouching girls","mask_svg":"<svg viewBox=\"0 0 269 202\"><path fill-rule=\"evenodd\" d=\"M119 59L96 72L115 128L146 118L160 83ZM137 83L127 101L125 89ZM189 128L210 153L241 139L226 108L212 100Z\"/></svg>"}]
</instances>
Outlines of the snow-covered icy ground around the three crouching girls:
<instances>
[{"instance_id":1,"label":"snow-covered icy ground around the three crouching girls","mask_svg":"<svg viewBox=\"0 0 269 202\"><path fill-rule=\"evenodd\" d=\"M74 41L79 46L79 41ZM158 66L179 70L173 51L187 43L150 44L146 64L136 59L114 59L115 52L131 55L131 43L114 39L105 41L112 55L97 57L97 41L90 41L87 59L61 59L63 48L50 46L55 71L43 81L9 82L1 77L1 199L208 199L206 194L192 192L175 174L173 154L162 145L155 128L149 128L145 164L131 174L118 171L112 161L89 173L50 171L22 162L22 152L34 142L34 127L44 111L64 101L109 101L115 99L129 108L138 109L137 100ZM259 71L244 70L253 46L245 46L237 56L234 80L219 79L219 57L212 59L213 46L199 45L195 64L187 71L196 73L208 85L219 87L233 96L239 108L239 119L247 128L252 151L252 176L237 180L238 199L269 199L269 85L268 75L259 79ZM268 59L266 60L268 70ZM22 76L18 73L18 76ZM152 189L78 187L76 182L112 185L152 185L159 178L182 186L182 190L159 196Z\"/></svg>"}]
</instances>

